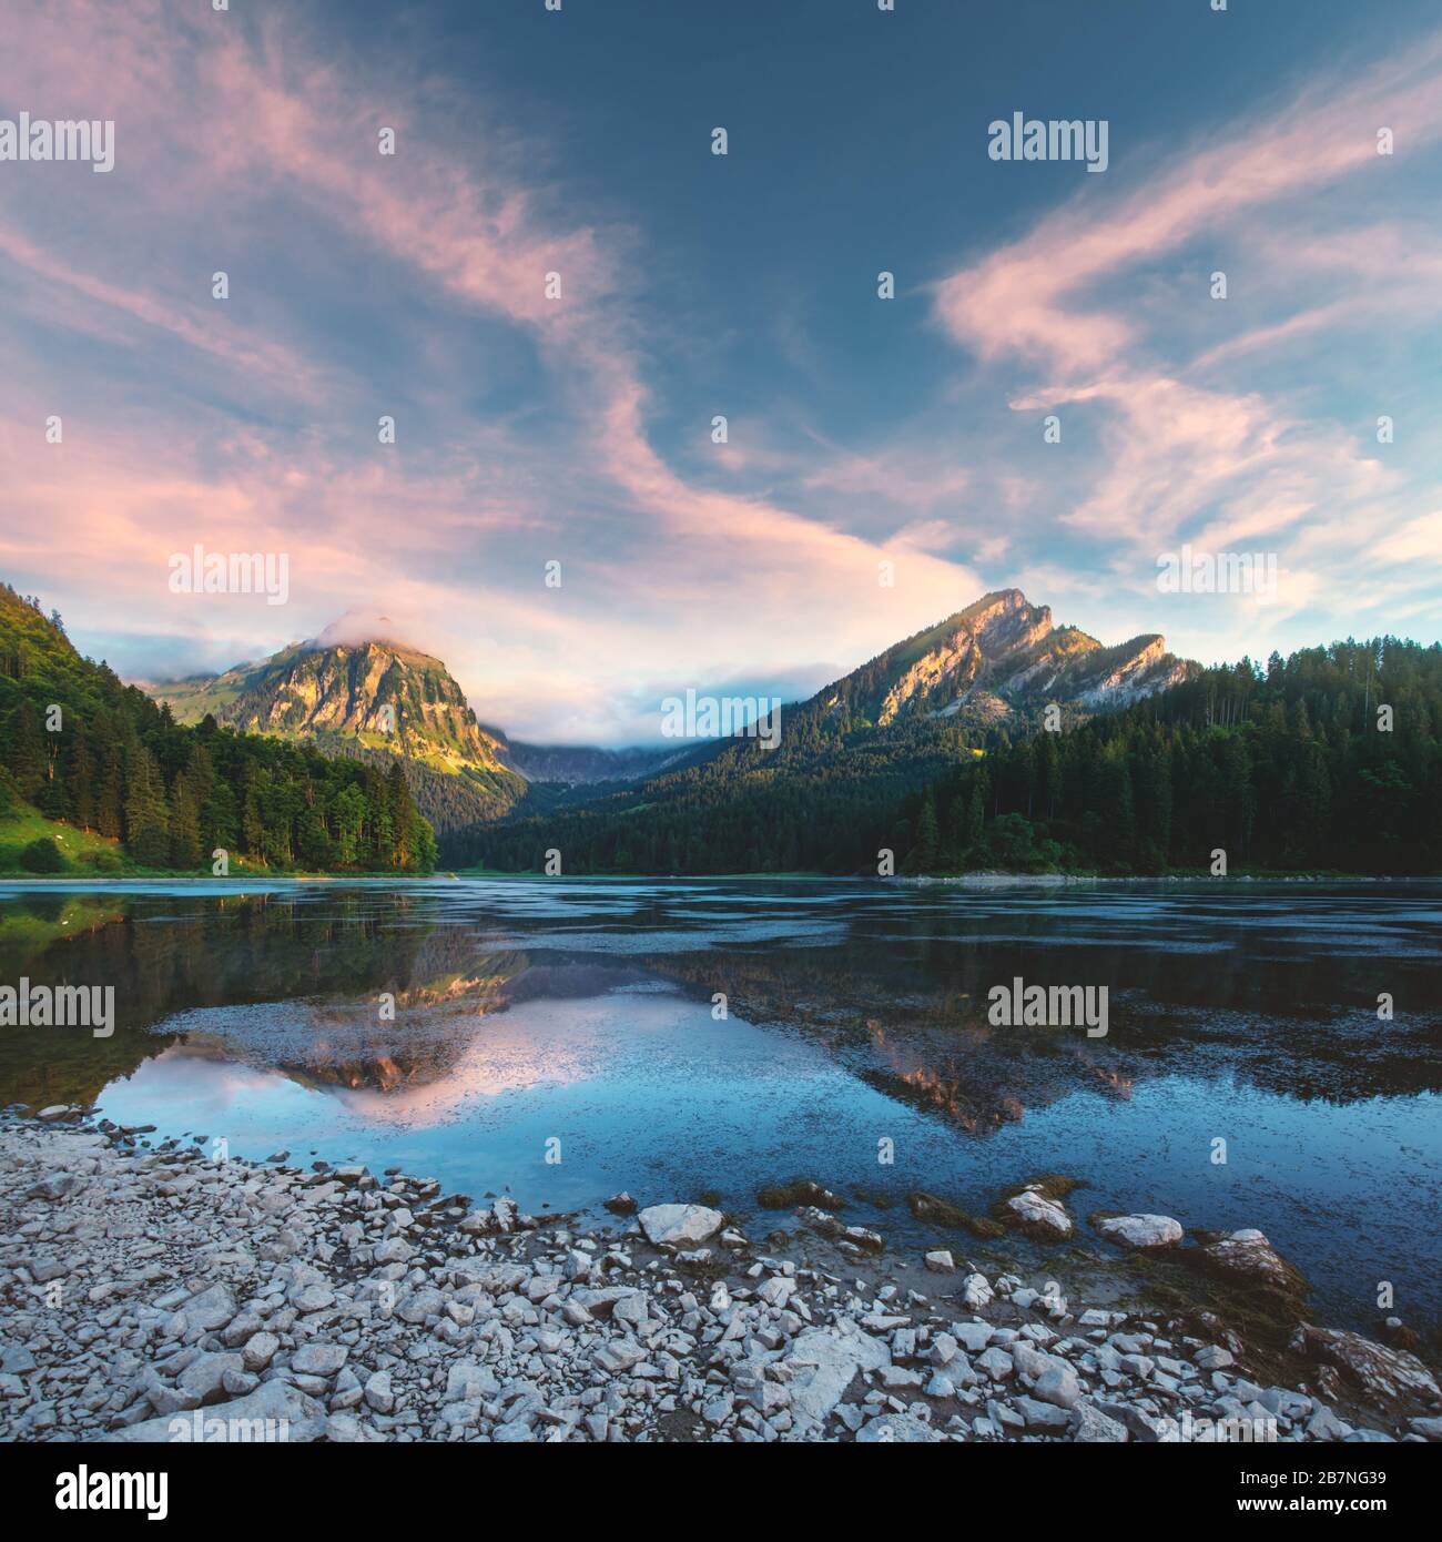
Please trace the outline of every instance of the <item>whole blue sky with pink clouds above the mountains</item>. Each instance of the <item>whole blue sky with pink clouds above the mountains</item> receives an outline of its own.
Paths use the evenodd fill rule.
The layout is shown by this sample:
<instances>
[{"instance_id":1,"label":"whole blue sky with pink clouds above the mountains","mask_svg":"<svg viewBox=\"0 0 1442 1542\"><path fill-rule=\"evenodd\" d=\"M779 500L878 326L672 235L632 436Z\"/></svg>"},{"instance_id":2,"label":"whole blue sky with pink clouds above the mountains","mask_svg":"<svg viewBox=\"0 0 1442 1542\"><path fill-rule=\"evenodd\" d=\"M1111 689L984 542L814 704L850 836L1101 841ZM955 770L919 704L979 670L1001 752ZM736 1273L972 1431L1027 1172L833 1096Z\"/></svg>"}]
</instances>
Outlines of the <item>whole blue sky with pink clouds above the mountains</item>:
<instances>
[{"instance_id":1,"label":"whole blue sky with pink clouds above the mountains","mask_svg":"<svg viewBox=\"0 0 1442 1542\"><path fill-rule=\"evenodd\" d=\"M0 160L0 577L126 678L384 614L558 743L1012 586L1434 643L1442 12L1212 5L6 0L0 120L114 167ZM285 603L174 592L197 543Z\"/></svg>"}]
</instances>

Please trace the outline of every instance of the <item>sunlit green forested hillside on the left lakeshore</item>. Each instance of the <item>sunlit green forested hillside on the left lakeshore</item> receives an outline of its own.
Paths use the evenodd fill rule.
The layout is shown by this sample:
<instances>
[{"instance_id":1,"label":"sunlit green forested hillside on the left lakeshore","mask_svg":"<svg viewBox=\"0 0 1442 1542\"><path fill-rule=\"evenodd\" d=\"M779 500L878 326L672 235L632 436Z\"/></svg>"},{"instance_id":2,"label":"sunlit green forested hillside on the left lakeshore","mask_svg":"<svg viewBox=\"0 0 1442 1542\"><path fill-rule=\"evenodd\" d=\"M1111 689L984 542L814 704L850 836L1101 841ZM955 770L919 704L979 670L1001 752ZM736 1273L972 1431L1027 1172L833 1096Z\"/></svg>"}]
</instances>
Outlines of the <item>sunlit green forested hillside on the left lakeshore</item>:
<instances>
[{"instance_id":1,"label":"sunlit green forested hillside on the left lakeshore","mask_svg":"<svg viewBox=\"0 0 1442 1542\"><path fill-rule=\"evenodd\" d=\"M399 762L330 760L213 717L180 726L0 584L0 803L17 800L123 842L147 868L208 873L216 848L270 870L435 865Z\"/></svg>"}]
</instances>

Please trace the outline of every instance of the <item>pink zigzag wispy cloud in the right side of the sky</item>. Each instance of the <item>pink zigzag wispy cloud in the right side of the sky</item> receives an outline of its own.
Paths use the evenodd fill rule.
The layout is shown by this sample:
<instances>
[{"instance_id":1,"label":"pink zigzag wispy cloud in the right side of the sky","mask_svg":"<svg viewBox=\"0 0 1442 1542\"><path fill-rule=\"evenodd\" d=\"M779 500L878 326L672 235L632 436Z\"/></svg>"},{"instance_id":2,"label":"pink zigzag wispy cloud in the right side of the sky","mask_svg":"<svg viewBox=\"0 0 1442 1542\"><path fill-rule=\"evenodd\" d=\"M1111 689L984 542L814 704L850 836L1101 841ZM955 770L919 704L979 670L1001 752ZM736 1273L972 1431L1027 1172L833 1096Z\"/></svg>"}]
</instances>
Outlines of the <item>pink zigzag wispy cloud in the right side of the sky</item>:
<instances>
[{"instance_id":1,"label":"pink zigzag wispy cloud in the right side of the sky","mask_svg":"<svg viewBox=\"0 0 1442 1542\"><path fill-rule=\"evenodd\" d=\"M1377 154L1383 126L1396 134L1391 159ZM1309 418L1300 390L1274 399L1255 375L1229 389L1218 372L1303 338L1325 338L1368 311L1396 316L1399 284L1414 301L1413 315L1436 308L1430 241L1419 245L1397 224L1319 231L1317 222L1336 224L1354 207L1336 202L1345 179L1394 177L1408 156L1439 139L1442 34L1373 66L1354 85L1319 83L1274 116L1178 154L1120 200L1087 187L1019 241L936 287L936 316L956 342L993 369L1007 364L1043 376L1015 392L1012 407L1038 419L1061 415L1073 450L1080 441L1100 452L1100 466L1060 510L1053 497L1052 513L1098 543L1120 543L1118 581L1144 591L1147 564L1138 557L1188 534L1215 549L1257 540L1291 544L1323 509L1376 509L1380 497L1400 493L1399 470L1383 463L1376 444ZM1112 176L1124 165L1114 157ZM1370 187L1380 193L1385 185ZM1317 207L1322 194L1331 200L1325 210ZM1245 293L1254 299L1265 288L1274 305L1292 308L1305 293L1299 276L1328 267L1359 282L1282 321L1252 324L1188 364L1175 338L1158 335L1172 316L1137 304L1135 287L1121 298L1118 291L1137 270L1164 258L1184 262L1186 282L1198 285L1212 267L1226 265L1218 261L1223 233L1246 253ZM1175 268L1163 282L1175 285ZM1194 288L1191 310L1198 304L1211 302ZM1405 506L1393 503L1382 527L1405 518ZM1340 564L1323 574L1303 571L1303 561L1299 547L1294 598L1345 583Z\"/></svg>"}]
</instances>

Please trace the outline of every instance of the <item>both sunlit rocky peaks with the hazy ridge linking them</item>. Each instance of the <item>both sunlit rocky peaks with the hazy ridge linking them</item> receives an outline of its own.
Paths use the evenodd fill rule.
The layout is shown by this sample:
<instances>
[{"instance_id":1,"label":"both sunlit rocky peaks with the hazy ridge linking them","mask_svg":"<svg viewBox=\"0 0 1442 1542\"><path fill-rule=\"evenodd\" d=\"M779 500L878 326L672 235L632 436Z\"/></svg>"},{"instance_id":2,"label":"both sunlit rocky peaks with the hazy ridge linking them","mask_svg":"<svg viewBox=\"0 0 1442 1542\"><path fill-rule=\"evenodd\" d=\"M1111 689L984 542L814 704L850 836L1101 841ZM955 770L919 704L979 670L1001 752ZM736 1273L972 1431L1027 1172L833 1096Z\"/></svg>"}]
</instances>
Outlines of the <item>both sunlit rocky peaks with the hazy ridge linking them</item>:
<instances>
[{"instance_id":1,"label":"both sunlit rocky peaks with the hazy ridge linking them","mask_svg":"<svg viewBox=\"0 0 1442 1542\"><path fill-rule=\"evenodd\" d=\"M800 728L802 752L780 763L808 763L807 736L819 736L810 760L833 757L834 769L845 763L862 783L868 762L885 762L890 788L901 763L915 760L918 774L944 765L942 729L964 737L1001 726L1024 732L1050 705L1078 720L1195 669L1169 654L1160 634L1106 646L1075 626L1055 626L1050 608L1032 604L1021 589L998 589L783 708L783 720ZM736 763L763 774L770 754L756 739L620 749L512 740L480 722L440 658L401 640L386 617L356 612L268 658L148 691L179 722L213 714L327 754L398 756L443 842L497 820L626 799L638 788L665 793L676 777L702 776L713 762L722 774Z\"/></svg>"}]
</instances>

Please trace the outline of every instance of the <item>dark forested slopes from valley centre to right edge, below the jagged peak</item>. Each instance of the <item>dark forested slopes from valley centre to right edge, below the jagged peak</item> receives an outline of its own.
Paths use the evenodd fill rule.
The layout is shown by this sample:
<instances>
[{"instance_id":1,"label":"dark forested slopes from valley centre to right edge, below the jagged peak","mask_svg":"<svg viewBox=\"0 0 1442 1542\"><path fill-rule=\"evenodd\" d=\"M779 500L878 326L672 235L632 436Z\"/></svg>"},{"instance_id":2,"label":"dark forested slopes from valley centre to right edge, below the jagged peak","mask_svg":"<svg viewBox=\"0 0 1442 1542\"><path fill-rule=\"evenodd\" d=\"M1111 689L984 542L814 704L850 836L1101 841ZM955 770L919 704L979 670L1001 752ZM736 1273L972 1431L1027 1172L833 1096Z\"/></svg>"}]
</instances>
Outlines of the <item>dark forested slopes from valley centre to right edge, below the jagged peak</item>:
<instances>
[{"instance_id":1,"label":"dark forested slopes from valley centre to right edge, below the jagged peak","mask_svg":"<svg viewBox=\"0 0 1442 1542\"><path fill-rule=\"evenodd\" d=\"M1167 873L1218 848L1229 871L1436 873L1442 649L1243 660L1016 742L799 709L774 751L728 745L591 808L472 831L458 857L526 871L552 848L566 873L876 873L882 850L899 871Z\"/></svg>"}]
</instances>

